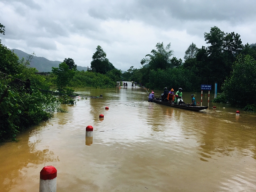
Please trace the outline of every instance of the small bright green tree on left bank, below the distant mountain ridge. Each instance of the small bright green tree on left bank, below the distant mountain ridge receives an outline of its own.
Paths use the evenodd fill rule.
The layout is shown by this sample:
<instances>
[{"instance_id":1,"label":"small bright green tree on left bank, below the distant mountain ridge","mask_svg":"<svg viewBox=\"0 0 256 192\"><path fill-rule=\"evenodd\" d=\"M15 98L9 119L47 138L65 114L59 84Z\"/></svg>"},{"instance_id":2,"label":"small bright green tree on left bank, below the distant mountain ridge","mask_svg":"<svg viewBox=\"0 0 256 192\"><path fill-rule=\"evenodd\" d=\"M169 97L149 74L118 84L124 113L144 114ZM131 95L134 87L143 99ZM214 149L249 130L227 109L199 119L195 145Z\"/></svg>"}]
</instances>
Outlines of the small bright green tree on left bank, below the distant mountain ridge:
<instances>
[{"instance_id":1,"label":"small bright green tree on left bank, below the distant mountain ridge","mask_svg":"<svg viewBox=\"0 0 256 192\"><path fill-rule=\"evenodd\" d=\"M69 84L69 81L74 76L74 69L69 69L69 66L62 62L59 64L59 68L52 67L53 74L57 75L57 78L55 80L58 91L63 91L64 88Z\"/></svg>"}]
</instances>

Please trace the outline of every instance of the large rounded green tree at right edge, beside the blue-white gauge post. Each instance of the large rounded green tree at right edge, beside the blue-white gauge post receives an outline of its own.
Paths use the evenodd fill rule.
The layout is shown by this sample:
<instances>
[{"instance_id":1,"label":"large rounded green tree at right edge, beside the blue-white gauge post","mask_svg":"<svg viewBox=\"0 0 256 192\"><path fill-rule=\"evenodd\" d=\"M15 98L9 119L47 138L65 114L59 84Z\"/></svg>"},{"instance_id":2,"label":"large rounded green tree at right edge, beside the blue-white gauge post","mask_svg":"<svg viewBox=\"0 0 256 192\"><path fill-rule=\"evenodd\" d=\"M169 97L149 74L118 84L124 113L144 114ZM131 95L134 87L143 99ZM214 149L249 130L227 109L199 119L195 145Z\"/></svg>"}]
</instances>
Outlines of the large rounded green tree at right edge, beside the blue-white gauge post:
<instances>
[{"instance_id":1,"label":"large rounded green tree at right edge, beside the blue-white gauge post","mask_svg":"<svg viewBox=\"0 0 256 192\"><path fill-rule=\"evenodd\" d=\"M244 107L256 104L256 61L250 55L239 55L233 64L231 76L221 89L232 105Z\"/></svg>"}]
</instances>

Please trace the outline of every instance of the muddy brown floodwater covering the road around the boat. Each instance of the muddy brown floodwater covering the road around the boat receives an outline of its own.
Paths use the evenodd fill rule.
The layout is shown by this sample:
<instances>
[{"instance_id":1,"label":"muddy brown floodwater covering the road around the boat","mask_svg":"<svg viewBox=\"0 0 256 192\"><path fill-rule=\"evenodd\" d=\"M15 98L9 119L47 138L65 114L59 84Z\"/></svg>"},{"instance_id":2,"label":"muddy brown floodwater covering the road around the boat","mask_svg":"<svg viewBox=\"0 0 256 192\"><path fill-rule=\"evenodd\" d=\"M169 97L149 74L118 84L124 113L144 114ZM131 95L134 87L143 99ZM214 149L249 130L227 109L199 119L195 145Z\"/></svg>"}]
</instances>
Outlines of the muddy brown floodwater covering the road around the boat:
<instances>
[{"instance_id":1,"label":"muddy brown floodwater covering the road around the boat","mask_svg":"<svg viewBox=\"0 0 256 192\"><path fill-rule=\"evenodd\" d=\"M68 113L0 146L1 192L39 191L39 172L49 165L58 171L58 192L256 191L255 113L240 110L238 118L238 109L220 103L202 112L162 106L130 86L77 92L103 99L62 106ZM185 102L190 94L183 92ZM204 106L207 100L206 92Z\"/></svg>"}]
</instances>

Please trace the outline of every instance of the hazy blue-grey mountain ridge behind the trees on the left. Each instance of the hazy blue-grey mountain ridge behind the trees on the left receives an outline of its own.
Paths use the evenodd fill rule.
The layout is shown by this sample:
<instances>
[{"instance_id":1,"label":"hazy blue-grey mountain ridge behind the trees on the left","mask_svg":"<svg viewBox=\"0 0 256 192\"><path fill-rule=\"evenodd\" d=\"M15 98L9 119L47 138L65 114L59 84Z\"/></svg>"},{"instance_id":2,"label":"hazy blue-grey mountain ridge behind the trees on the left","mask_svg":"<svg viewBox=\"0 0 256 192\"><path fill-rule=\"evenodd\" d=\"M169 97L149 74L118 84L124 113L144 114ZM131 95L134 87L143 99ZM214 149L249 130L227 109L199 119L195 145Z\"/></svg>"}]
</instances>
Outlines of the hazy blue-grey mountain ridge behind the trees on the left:
<instances>
[{"instance_id":1,"label":"hazy blue-grey mountain ridge behind the trees on the left","mask_svg":"<svg viewBox=\"0 0 256 192\"><path fill-rule=\"evenodd\" d=\"M19 59L22 59L22 57L24 57L24 59L26 60L30 55L19 49L12 49L12 50L14 51L14 53L16 53ZM51 72L52 67L59 67L60 63L62 63L62 61L50 61L45 57L33 56L33 59L30 61L30 67L36 68L39 72ZM76 68L79 71L87 70L87 67L77 66Z\"/></svg>"}]
</instances>

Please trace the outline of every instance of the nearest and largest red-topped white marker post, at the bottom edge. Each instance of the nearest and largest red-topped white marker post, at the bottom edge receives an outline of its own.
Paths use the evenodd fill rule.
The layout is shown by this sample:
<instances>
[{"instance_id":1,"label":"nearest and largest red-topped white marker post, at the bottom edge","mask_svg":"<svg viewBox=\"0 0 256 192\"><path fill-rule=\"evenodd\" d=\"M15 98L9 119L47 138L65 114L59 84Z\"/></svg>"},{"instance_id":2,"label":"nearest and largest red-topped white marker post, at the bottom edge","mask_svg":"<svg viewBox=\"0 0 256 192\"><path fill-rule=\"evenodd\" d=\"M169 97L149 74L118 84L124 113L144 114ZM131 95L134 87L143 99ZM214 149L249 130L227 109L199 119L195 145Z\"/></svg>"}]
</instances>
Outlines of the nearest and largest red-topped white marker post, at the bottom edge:
<instances>
[{"instance_id":1,"label":"nearest and largest red-topped white marker post, at the bottom edge","mask_svg":"<svg viewBox=\"0 0 256 192\"><path fill-rule=\"evenodd\" d=\"M39 192L56 192L57 169L53 166L45 166L40 171Z\"/></svg>"}]
</instances>

